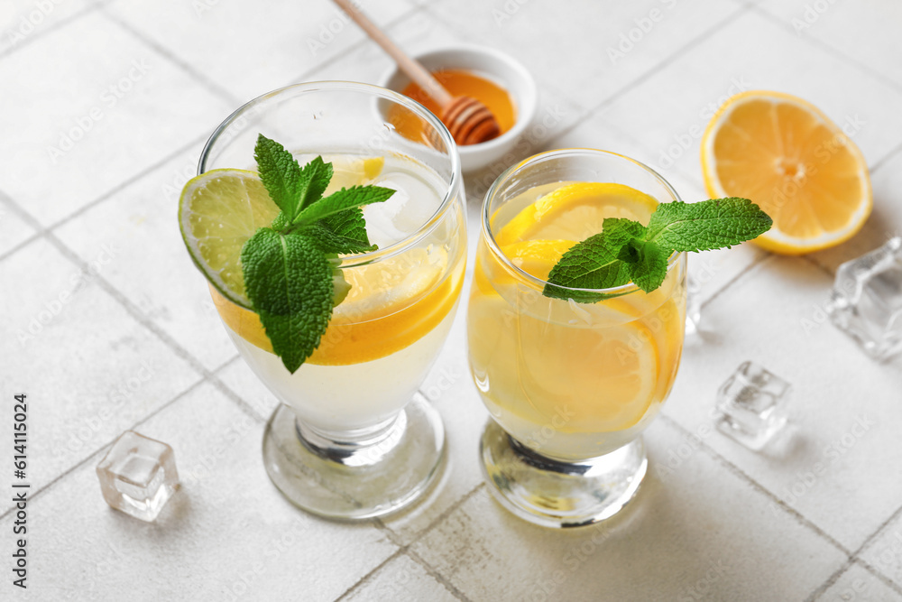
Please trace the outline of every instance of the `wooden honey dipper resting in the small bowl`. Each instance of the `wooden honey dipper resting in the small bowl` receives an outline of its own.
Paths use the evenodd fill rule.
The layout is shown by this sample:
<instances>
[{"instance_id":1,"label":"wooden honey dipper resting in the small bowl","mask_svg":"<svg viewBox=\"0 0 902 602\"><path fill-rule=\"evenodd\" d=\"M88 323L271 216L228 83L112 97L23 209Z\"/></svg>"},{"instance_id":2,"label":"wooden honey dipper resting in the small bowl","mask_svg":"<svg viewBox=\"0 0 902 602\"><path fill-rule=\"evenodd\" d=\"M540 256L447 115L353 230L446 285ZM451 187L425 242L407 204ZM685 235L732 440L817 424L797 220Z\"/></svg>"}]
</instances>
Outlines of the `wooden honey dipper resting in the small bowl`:
<instances>
[{"instance_id":1,"label":"wooden honey dipper resting in the small bowl","mask_svg":"<svg viewBox=\"0 0 902 602\"><path fill-rule=\"evenodd\" d=\"M498 120L492 111L473 97L453 97L418 60L413 60L397 44L391 42L381 29L357 10L350 0L333 0L354 23L366 32L373 42L391 55L400 70L413 79L420 88L442 107L439 116L457 144L479 144L501 134Z\"/></svg>"}]
</instances>

